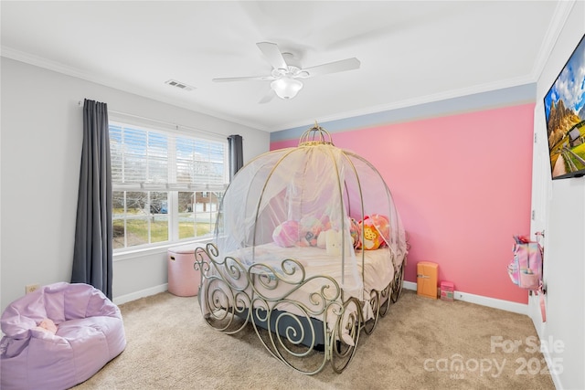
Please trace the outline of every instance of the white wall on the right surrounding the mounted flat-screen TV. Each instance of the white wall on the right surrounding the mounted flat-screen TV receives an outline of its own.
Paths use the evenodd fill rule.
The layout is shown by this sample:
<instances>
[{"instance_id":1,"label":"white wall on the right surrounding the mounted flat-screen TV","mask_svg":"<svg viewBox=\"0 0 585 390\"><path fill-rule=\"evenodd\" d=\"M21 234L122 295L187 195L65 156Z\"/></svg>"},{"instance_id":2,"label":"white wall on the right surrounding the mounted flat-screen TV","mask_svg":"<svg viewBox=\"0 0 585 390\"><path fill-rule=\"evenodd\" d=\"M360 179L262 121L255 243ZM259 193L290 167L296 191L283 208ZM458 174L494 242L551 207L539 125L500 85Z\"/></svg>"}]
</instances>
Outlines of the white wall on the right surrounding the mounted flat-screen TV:
<instances>
[{"instance_id":1,"label":"white wall on the right surrounding the mounted flat-screen TV","mask_svg":"<svg viewBox=\"0 0 585 390\"><path fill-rule=\"evenodd\" d=\"M576 2L537 82L531 232L545 231L544 282L547 321L538 297L529 312L559 389L585 388L585 177L550 180L542 99L585 32L585 3ZM534 236L533 236L534 237Z\"/></svg>"}]
</instances>

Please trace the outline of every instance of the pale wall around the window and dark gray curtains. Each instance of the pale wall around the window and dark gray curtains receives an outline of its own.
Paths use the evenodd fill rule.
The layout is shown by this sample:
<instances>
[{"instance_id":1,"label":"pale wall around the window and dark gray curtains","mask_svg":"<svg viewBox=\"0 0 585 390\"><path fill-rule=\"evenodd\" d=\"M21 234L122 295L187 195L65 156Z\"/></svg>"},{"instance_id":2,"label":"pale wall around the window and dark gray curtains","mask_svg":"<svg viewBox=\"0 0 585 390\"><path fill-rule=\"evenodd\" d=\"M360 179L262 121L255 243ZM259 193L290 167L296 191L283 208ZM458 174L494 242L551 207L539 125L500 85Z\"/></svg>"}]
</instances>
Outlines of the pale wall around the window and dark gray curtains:
<instances>
[{"instance_id":1,"label":"pale wall around the window and dark gray curtains","mask_svg":"<svg viewBox=\"0 0 585 390\"><path fill-rule=\"evenodd\" d=\"M0 304L25 285L69 281L80 172L84 98L109 110L217 132L240 134L244 163L269 150L270 134L2 58ZM165 290L165 250L114 258L114 301Z\"/></svg>"}]
</instances>

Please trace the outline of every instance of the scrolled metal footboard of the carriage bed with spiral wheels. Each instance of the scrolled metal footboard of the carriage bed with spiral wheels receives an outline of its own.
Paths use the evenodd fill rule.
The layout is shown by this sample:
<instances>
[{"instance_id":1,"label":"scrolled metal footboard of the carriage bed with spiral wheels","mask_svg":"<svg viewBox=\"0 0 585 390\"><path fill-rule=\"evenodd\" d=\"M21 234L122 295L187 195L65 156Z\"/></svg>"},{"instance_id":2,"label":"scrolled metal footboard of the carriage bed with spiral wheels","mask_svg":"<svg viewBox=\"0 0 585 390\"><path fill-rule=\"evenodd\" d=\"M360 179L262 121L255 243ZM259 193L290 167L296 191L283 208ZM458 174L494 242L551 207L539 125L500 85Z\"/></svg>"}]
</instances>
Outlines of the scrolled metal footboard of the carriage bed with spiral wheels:
<instances>
[{"instance_id":1,"label":"scrolled metal footboard of the carriage bed with spiral wheels","mask_svg":"<svg viewBox=\"0 0 585 390\"><path fill-rule=\"evenodd\" d=\"M239 258L219 258L211 243L197 248L195 268L201 270L199 303L212 328L234 334L250 322L274 357L303 374L319 373L328 362L340 373L354 357L361 305L354 297L342 300L335 279L307 278L293 258L278 268L248 267Z\"/></svg>"}]
</instances>

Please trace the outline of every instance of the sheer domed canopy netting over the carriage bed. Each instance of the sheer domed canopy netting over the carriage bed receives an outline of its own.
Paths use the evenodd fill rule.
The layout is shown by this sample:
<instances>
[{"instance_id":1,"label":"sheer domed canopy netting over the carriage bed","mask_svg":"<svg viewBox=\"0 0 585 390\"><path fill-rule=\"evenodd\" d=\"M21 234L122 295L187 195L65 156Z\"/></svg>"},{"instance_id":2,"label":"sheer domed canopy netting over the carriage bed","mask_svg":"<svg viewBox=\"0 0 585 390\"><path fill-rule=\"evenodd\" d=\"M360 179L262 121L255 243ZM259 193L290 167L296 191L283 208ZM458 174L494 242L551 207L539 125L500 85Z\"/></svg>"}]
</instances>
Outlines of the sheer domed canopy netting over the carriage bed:
<instances>
[{"instance_id":1,"label":"sheer domed canopy netting over the carriage bed","mask_svg":"<svg viewBox=\"0 0 585 390\"><path fill-rule=\"evenodd\" d=\"M335 147L316 123L297 147L264 153L239 170L219 206L215 234L220 254L245 258L247 265L270 262L278 269L293 258L312 267L318 262L322 269L335 266L340 286L359 299L365 252L388 252L388 268L376 270L388 273L379 278L386 284L372 286L382 290L407 250L399 213L378 170ZM323 256L315 261L308 253Z\"/></svg>"}]
</instances>

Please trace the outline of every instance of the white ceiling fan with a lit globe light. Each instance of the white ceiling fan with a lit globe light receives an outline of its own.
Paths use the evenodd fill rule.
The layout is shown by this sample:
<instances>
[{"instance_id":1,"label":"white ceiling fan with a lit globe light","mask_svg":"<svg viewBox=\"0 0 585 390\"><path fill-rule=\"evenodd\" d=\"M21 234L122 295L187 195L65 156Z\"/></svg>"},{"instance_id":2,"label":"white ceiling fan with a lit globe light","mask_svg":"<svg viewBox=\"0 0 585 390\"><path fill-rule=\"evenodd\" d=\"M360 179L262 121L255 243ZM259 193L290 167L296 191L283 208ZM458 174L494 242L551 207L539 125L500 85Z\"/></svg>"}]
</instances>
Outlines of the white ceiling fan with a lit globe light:
<instances>
[{"instance_id":1,"label":"white ceiling fan with a lit globe light","mask_svg":"<svg viewBox=\"0 0 585 390\"><path fill-rule=\"evenodd\" d=\"M250 76L238 78L213 79L216 82L225 81L249 81L249 80L271 80L271 90L260 100L266 103L272 99L274 93L281 99L293 99L303 88L301 79L309 79L328 73L343 72L346 70L359 69L360 62L357 58L347 58L340 61L329 62L311 68L301 68L294 62L291 53L282 53L278 45L271 42L259 42L256 44L261 52L268 59L272 66L270 76ZM272 93L274 91L274 93Z\"/></svg>"}]
</instances>

